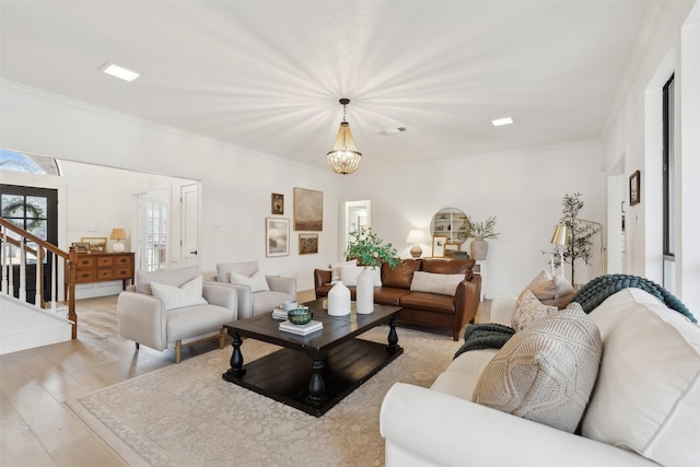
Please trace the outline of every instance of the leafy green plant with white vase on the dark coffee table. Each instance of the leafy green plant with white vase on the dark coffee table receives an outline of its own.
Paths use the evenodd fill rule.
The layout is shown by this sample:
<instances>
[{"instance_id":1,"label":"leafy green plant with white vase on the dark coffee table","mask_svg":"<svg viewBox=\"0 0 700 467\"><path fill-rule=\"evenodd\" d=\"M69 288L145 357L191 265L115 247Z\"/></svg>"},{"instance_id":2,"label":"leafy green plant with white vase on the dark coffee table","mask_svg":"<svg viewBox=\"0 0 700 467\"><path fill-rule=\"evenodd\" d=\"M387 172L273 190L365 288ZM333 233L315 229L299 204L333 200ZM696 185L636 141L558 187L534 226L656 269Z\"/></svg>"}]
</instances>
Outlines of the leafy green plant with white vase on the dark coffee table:
<instances>
[{"instance_id":1,"label":"leafy green plant with white vase on the dark coffee table","mask_svg":"<svg viewBox=\"0 0 700 467\"><path fill-rule=\"evenodd\" d=\"M351 232L350 236L352 240L346 248L346 258L357 259L358 265L365 267L358 276L355 310L359 314L369 314L374 311L374 275L378 273L371 269L383 262L387 262L394 269L401 259L396 248L390 243L385 245L372 229L365 232Z\"/></svg>"}]
</instances>

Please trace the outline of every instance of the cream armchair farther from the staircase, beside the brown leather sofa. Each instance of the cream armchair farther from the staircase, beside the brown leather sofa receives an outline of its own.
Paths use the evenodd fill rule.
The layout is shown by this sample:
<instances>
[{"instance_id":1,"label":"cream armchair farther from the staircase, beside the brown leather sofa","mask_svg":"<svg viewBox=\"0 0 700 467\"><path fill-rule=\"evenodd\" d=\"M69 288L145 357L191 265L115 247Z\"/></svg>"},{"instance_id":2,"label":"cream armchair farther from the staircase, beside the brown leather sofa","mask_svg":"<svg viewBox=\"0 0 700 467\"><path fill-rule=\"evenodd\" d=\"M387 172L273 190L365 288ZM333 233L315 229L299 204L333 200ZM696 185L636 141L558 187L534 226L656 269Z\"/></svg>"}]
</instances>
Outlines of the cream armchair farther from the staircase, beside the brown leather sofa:
<instances>
[{"instance_id":1,"label":"cream armchair farther from the staircase, beside the brown leather sofa","mask_svg":"<svg viewBox=\"0 0 700 467\"><path fill-rule=\"evenodd\" d=\"M271 312L288 300L296 300L296 279L265 276L258 261L218 264L217 276L209 283L236 290L238 319Z\"/></svg>"}]
</instances>

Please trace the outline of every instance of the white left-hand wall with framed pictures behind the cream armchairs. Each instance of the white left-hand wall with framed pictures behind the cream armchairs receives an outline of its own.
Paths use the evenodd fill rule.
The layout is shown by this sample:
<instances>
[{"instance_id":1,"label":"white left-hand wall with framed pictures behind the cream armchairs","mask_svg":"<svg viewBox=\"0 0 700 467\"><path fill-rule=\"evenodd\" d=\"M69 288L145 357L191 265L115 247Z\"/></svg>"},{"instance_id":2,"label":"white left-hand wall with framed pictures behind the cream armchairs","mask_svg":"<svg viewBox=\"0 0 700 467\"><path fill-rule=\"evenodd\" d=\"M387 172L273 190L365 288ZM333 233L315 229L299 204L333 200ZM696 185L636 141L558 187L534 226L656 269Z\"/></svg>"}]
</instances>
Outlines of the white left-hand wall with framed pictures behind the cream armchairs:
<instances>
[{"instance_id":1,"label":"white left-hand wall with framed pictures behind the cream armchairs","mask_svg":"<svg viewBox=\"0 0 700 467\"><path fill-rule=\"evenodd\" d=\"M213 271L217 262L257 259L265 272L298 277L299 289L306 290L313 288L313 269L337 258L337 206L342 184L329 171L254 153L14 83L2 82L0 92L1 145L5 149L200 180L199 250L205 272ZM266 258L265 218L271 217L270 196L284 195L283 217L291 220L295 186L324 192L319 254L299 256L299 233L291 231L290 256ZM100 200L100 182L91 189L92 198ZM125 190L131 194L131 187ZM102 220L95 223L101 231L112 227L103 225ZM79 229L82 225L81 221Z\"/></svg>"}]
</instances>

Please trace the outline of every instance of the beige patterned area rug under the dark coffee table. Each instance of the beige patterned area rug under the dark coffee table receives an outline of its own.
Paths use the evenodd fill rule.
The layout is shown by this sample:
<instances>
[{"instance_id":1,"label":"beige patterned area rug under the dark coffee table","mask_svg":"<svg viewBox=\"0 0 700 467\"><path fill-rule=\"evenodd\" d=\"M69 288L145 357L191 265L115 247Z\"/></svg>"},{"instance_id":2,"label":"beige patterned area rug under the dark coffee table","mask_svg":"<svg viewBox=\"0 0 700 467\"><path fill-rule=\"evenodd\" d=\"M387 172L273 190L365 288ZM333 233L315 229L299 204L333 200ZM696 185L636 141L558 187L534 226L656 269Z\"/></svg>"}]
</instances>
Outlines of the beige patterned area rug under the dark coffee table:
<instances>
[{"instance_id":1,"label":"beige patterned area rug under the dark coffee table","mask_svg":"<svg viewBox=\"0 0 700 467\"><path fill-rule=\"evenodd\" d=\"M388 327L362 338L386 342ZM383 466L380 407L396 382L430 386L460 342L398 328L404 354L316 418L221 378L231 347L80 397L69 406L131 465ZM246 339L250 362L278 349Z\"/></svg>"}]
</instances>

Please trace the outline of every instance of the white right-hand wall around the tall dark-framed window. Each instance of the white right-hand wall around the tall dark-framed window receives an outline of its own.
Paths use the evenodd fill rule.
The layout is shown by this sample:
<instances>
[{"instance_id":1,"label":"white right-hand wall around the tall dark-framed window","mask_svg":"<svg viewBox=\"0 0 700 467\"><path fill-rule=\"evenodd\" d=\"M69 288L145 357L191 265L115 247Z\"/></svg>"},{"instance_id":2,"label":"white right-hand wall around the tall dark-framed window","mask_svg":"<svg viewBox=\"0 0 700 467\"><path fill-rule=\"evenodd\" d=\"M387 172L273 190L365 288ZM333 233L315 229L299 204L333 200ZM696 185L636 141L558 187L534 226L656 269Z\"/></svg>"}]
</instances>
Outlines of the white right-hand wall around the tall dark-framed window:
<instances>
[{"instance_id":1,"label":"white right-hand wall around the tall dark-framed window","mask_svg":"<svg viewBox=\"0 0 700 467\"><path fill-rule=\"evenodd\" d=\"M626 272L662 283L662 87L676 73L676 273L675 293L690 307L700 310L700 12L695 2L666 2L650 21L641 38L639 55L631 60L630 81L619 95L606 139L609 175L625 154L626 175L642 172L641 202L627 211ZM682 34L681 34L682 33ZM627 187L625 187L627 191ZM628 194L629 197L629 194ZM629 198L628 198L629 199ZM612 210L615 207L609 206ZM610 245L610 248L616 247Z\"/></svg>"}]
</instances>

